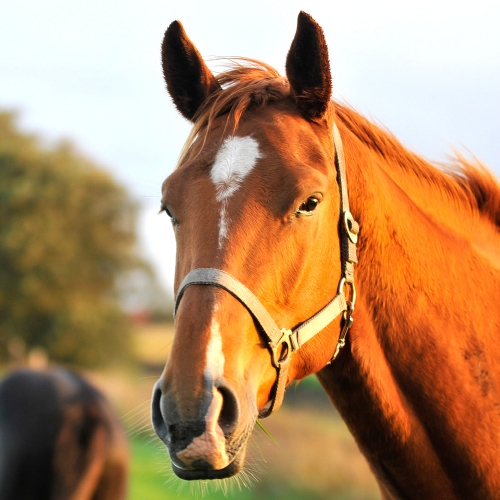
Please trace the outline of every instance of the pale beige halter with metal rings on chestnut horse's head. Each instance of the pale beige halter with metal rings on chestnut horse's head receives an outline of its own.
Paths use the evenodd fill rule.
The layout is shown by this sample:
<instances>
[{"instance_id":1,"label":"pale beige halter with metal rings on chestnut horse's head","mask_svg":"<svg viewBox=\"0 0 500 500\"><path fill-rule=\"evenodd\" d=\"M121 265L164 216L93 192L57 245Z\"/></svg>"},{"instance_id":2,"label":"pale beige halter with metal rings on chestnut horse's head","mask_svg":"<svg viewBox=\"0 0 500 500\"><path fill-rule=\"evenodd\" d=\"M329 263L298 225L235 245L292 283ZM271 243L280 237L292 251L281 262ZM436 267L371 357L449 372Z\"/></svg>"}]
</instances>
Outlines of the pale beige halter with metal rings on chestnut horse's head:
<instances>
[{"instance_id":1,"label":"pale beige halter with metal rings on chestnut horse's head","mask_svg":"<svg viewBox=\"0 0 500 500\"><path fill-rule=\"evenodd\" d=\"M349 211L344 149L340 133L335 124L333 126L333 142L336 151L335 167L337 169L337 182L340 188L339 232L342 274L338 285L337 295L331 302L293 330L279 328L267 309L252 291L225 271L212 268L198 268L190 271L182 281L175 299L174 317L187 287L191 285L216 286L226 290L238 299L256 320L257 324L260 326L261 335L263 335L268 342L268 348L271 352L271 363L277 371L271 400L259 414L259 418L269 416L281 406L285 395L288 368L290 366L292 354L343 313L343 324L335 352L328 362L328 364L330 364L337 357L340 349L344 347L347 332L351 328L353 322L352 313L356 302L354 264L358 261L356 257L356 243L358 241L359 226ZM350 300L346 298L346 287L350 288Z\"/></svg>"}]
</instances>

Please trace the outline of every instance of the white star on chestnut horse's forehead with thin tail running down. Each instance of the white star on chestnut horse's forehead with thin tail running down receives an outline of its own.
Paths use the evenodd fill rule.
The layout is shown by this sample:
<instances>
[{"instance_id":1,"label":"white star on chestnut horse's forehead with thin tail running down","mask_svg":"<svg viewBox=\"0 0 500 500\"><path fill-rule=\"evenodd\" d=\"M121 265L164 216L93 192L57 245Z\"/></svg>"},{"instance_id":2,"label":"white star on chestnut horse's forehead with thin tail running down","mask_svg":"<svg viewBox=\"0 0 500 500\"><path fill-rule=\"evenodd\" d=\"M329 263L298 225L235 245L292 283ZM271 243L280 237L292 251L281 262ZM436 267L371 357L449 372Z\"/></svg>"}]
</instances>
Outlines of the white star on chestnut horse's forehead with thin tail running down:
<instances>
[{"instance_id":1,"label":"white star on chestnut horse's forehead with thin tail running down","mask_svg":"<svg viewBox=\"0 0 500 500\"><path fill-rule=\"evenodd\" d=\"M259 143L250 136L228 137L222 143L210 171L210 178L216 186L219 209L219 248L228 235L229 198L239 189L243 179L251 172L262 155Z\"/></svg>"}]
</instances>

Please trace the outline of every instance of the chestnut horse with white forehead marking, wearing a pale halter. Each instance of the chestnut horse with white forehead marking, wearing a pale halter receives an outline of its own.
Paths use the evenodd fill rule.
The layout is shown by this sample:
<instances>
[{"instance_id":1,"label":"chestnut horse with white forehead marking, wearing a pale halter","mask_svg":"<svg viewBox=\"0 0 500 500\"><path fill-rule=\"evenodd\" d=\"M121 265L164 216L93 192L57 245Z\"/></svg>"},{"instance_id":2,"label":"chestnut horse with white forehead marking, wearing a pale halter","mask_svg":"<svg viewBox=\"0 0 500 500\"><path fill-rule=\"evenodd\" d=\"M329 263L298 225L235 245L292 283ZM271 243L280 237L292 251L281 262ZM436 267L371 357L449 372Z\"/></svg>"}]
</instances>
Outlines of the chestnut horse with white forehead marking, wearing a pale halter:
<instances>
[{"instance_id":1,"label":"chestnut horse with white forehead marking, wearing a pale halter","mask_svg":"<svg viewBox=\"0 0 500 500\"><path fill-rule=\"evenodd\" d=\"M215 76L180 22L165 32L167 89L193 123L161 198L175 336L152 421L175 474L237 474L256 420L316 374L383 499L498 498L494 175L458 153L432 164L333 100L304 12L286 77L231 61Z\"/></svg>"}]
</instances>

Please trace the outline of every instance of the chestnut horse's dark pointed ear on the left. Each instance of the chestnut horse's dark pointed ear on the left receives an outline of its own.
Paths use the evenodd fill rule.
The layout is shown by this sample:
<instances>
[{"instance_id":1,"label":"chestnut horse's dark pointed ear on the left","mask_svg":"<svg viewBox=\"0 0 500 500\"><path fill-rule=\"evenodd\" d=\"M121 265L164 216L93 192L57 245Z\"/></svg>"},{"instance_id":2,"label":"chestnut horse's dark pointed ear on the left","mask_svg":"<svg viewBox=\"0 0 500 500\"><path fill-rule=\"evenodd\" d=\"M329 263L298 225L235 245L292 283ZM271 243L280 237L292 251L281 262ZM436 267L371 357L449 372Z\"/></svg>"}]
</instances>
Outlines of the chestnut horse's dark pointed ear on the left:
<instances>
[{"instance_id":1,"label":"chestnut horse's dark pointed ear on the left","mask_svg":"<svg viewBox=\"0 0 500 500\"><path fill-rule=\"evenodd\" d=\"M161 58L168 92L181 114L192 121L220 85L179 21L174 21L165 32Z\"/></svg>"}]
</instances>

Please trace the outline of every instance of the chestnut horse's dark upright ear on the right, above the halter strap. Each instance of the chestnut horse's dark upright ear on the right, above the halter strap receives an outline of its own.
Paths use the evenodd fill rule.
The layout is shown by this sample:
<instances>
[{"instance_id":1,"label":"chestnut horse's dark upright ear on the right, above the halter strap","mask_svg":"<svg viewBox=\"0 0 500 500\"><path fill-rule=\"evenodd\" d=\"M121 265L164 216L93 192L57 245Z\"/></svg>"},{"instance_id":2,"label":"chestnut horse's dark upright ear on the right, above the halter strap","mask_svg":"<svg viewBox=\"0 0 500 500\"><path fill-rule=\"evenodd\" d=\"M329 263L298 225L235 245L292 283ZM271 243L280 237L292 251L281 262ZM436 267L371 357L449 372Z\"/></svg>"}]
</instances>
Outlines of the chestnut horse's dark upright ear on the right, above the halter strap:
<instances>
[{"instance_id":1,"label":"chestnut horse's dark upright ear on the right, above the halter strap","mask_svg":"<svg viewBox=\"0 0 500 500\"><path fill-rule=\"evenodd\" d=\"M321 27L303 11L286 58L286 75L300 110L308 118L323 117L332 95L328 47Z\"/></svg>"}]
</instances>

